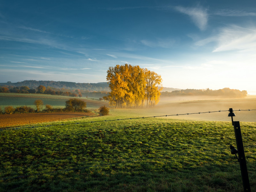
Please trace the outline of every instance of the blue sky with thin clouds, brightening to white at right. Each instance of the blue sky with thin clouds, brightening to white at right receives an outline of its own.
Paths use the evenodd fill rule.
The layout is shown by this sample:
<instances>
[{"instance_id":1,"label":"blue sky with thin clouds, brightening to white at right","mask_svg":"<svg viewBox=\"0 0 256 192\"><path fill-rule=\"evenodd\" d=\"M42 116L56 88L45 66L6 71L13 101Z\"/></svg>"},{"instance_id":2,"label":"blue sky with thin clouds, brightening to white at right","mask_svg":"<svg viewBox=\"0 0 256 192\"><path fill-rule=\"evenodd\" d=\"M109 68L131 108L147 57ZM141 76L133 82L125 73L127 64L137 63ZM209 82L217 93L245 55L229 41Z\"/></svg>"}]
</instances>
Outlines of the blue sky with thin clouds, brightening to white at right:
<instances>
[{"instance_id":1,"label":"blue sky with thin clouds, brightening to white at right","mask_svg":"<svg viewBox=\"0 0 256 192\"><path fill-rule=\"evenodd\" d=\"M0 82L106 82L125 63L164 87L256 92L255 1L0 1Z\"/></svg>"}]
</instances>

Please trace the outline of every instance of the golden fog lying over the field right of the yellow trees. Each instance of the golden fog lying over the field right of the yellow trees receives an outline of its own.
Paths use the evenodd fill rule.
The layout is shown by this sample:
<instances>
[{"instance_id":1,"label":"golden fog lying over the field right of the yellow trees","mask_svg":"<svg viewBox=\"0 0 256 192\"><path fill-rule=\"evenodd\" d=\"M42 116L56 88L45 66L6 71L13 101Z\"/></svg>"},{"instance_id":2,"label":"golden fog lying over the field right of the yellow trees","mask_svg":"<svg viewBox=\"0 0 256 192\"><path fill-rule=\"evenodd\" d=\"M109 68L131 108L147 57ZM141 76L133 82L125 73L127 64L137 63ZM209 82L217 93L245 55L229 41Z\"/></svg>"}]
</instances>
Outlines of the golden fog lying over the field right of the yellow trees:
<instances>
[{"instance_id":1,"label":"golden fog lying over the field right of the yellow trees","mask_svg":"<svg viewBox=\"0 0 256 192\"><path fill-rule=\"evenodd\" d=\"M173 99L173 98L172 98ZM200 100L201 99L201 100ZM147 112L154 116L158 115L176 115L186 113L199 113L208 111L228 110L248 110L256 109L256 96L248 96L245 99L213 99L212 97L177 97L173 100L170 98L161 98L159 103L147 108ZM143 110L143 109L142 109ZM231 121L228 117L228 111L205 114L192 114L181 116L170 116L172 119L189 119L189 120L207 120L207 121ZM235 111L234 121L255 122L256 111ZM143 115L141 113L140 115ZM164 117L165 118L165 117Z\"/></svg>"}]
</instances>

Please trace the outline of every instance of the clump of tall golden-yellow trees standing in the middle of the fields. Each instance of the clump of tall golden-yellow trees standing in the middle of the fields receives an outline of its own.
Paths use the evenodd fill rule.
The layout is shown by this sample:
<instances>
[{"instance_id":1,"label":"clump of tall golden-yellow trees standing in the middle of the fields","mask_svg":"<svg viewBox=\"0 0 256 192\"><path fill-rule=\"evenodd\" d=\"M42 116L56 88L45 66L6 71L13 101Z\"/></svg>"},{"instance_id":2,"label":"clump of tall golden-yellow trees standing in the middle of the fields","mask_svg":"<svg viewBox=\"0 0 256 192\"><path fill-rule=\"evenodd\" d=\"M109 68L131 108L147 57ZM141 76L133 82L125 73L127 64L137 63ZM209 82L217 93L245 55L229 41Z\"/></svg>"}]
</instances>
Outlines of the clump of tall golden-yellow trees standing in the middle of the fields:
<instances>
[{"instance_id":1,"label":"clump of tall golden-yellow trees standing in the middle of the fields","mask_svg":"<svg viewBox=\"0 0 256 192\"><path fill-rule=\"evenodd\" d=\"M103 97L116 108L156 105L162 90L162 78L154 71L132 65L109 67L107 81L111 92Z\"/></svg>"}]
</instances>

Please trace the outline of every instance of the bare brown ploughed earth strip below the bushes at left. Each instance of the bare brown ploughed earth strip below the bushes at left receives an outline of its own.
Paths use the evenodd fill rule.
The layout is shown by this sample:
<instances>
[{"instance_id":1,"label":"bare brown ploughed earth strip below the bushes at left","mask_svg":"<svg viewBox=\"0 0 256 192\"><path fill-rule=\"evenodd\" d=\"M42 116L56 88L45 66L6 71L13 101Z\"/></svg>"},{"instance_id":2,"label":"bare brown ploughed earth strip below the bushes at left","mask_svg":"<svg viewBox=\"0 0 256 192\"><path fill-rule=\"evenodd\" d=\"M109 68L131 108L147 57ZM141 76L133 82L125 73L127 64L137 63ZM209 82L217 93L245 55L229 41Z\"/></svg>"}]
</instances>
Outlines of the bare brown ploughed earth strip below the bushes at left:
<instances>
[{"instance_id":1,"label":"bare brown ploughed earth strip below the bushes at left","mask_svg":"<svg viewBox=\"0 0 256 192\"><path fill-rule=\"evenodd\" d=\"M0 115L0 127L11 127L17 125L36 124L63 119L78 118L84 116L95 116L94 113L29 113Z\"/></svg>"}]
</instances>

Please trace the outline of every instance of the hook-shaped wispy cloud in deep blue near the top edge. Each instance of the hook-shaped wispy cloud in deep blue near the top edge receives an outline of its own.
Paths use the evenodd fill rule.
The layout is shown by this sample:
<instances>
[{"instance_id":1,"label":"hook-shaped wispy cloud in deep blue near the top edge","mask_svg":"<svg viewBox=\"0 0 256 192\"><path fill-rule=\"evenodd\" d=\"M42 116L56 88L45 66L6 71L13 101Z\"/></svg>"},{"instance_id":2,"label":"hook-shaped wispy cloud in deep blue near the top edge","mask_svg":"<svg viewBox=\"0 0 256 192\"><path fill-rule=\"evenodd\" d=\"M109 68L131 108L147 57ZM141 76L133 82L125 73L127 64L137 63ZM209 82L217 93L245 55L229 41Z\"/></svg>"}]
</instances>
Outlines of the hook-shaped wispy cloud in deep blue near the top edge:
<instances>
[{"instance_id":1,"label":"hook-shaped wispy cloud in deep blue near the top edge","mask_svg":"<svg viewBox=\"0 0 256 192\"><path fill-rule=\"evenodd\" d=\"M191 17L192 21L195 23L195 25L201 29L205 30L208 22L208 13L207 9L196 6L196 7L181 7L176 6L175 9L181 13L187 14Z\"/></svg>"}]
</instances>

